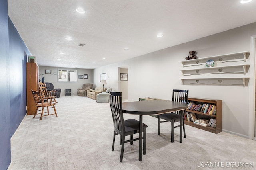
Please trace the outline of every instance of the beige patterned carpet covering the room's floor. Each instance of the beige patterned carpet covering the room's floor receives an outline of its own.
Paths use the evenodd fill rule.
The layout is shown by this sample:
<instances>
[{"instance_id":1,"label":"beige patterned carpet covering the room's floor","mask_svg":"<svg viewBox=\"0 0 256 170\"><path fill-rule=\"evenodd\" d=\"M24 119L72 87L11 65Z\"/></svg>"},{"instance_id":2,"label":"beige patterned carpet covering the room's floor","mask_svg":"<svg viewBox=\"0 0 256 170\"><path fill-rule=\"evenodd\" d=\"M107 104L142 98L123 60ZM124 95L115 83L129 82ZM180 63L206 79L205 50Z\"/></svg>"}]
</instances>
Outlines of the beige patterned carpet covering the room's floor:
<instances>
[{"instance_id":1,"label":"beige patterned carpet covering the room's floor","mask_svg":"<svg viewBox=\"0 0 256 170\"><path fill-rule=\"evenodd\" d=\"M144 116L147 128L147 154L138 161L138 141L125 144L120 158L120 137L113 138L109 103L96 103L87 97L57 99L58 117L27 115L11 140L10 170L214 170L256 169L256 141L186 125L187 138L179 143L179 128L170 143L170 123ZM136 115L125 114L125 119ZM202 165L203 167L198 167ZM238 166L231 168L230 166ZM244 167L246 166L246 167Z\"/></svg>"}]
</instances>

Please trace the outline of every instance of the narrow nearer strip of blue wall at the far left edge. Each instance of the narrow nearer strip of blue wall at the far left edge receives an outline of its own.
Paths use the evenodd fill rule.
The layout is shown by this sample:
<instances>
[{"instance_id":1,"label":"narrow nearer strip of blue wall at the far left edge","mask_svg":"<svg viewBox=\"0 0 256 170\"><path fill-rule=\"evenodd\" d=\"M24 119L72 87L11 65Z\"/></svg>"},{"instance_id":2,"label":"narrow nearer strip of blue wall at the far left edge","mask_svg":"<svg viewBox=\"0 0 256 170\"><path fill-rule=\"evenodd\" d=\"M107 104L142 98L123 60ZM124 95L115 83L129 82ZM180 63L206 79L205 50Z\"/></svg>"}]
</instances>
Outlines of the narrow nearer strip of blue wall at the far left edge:
<instances>
[{"instance_id":1,"label":"narrow nearer strip of blue wall at the far left edge","mask_svg":"<svg viewBox=\"0 0 256 170\"><path fill-rule=\"evenodd\" d=\"M0 169L6 170L11 162L7 0L0 0L0 4Z\"/></svg>"}]
</instances>

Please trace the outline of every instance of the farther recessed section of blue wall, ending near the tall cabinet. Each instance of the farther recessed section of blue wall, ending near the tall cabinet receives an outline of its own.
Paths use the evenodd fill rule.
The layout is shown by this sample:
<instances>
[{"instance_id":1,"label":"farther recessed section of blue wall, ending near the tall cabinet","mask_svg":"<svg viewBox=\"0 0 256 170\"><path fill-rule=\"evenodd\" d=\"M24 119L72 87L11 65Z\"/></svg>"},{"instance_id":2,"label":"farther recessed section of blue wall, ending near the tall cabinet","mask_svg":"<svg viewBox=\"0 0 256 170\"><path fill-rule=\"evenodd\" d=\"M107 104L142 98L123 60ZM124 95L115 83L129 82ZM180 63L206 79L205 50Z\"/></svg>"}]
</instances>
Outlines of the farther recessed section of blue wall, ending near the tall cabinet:
<instances>
[{"instance_id":1,"label":"farther recessed section of blue wall, ending near the tall cabinet","mask_svg":"<svg viewBox=\"0 0 256 170\"><path fill-rule=\"evenodd\" d=\"M26 62L30 51L9 18L10 134L26 115Z\"/></svg>"}]
</instances>

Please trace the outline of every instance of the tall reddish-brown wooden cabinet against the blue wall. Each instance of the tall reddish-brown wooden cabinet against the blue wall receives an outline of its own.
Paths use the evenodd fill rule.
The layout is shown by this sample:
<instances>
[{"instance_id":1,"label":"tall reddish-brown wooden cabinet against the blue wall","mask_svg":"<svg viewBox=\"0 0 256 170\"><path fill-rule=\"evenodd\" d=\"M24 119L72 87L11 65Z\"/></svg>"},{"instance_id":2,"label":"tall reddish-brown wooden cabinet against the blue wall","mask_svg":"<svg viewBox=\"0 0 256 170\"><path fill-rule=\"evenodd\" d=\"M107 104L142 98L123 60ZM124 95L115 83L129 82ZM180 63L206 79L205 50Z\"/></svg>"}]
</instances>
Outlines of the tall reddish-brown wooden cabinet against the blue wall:
<instances>
[{"instance_id":1,"label":"tall reddish-brown wooden cabinet against the blue wall","mask_svg":"<svg viewBox=\"0 0 256 170\"><path fill-rule=\"evenodd\" d=\"M34 115L36 111L36 105L32 96L31 89L38 91L39 77L38 77L38 65L36 63L27 63L27 114Z\"/></svg>"}]
</instances>

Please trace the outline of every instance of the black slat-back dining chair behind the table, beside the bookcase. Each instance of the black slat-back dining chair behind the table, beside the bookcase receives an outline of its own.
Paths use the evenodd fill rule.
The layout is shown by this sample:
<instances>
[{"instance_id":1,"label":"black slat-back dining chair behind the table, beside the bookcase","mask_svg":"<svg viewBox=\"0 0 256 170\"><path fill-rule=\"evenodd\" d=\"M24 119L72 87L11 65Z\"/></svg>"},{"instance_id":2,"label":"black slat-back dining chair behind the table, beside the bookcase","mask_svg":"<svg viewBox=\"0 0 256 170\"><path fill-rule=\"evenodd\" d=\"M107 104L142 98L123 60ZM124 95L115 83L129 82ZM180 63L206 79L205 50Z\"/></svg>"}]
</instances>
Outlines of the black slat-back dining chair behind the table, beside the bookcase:
<instances>
[{"instance_id":1,"label":"black slat-back dining chair behind the table, beside the bookcase","mask_svg":"<svg viewBox=\"0 0 256 170\"><path fill-rule=\"evenodd\" d=\"M188 90L178 90L173 89L172 90L172 101L176 102L183 102L188 103ZM162 115L158 115L158 131L157 134L160 135L160 123L164 122L171 122L171 142L174 142L174 128L180 127L180 125L174 126L175 122L180 121L180 114L182 114L183 119L183 132L184 132L184 138L186 138L185 133L185 124L184 124L184 113L186 110L182 111L174 111L171 113L165 113ZM161 121L161 119L164 119L164 121Z\"/></svg>"}]
</instances>

